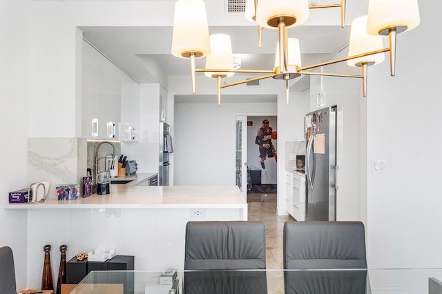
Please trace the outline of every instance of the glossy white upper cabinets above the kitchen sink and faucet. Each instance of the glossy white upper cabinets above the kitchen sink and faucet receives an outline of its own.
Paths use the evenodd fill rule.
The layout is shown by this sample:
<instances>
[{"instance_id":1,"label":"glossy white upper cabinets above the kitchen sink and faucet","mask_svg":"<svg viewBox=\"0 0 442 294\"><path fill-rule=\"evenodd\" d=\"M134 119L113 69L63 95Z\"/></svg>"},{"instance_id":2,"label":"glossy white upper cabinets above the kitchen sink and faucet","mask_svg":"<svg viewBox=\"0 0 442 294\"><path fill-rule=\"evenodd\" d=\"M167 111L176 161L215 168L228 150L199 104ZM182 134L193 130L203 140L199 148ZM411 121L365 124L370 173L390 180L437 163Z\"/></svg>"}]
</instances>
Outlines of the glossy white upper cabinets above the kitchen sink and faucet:
<instances>
[{"instance_id":1,"label":"glossy white upper cabinets above the kitchen sink and faucet","mask_svg":"<svg viewBox=\"0 0 442 294\"><path fill-rule=\"evenodd\" d=\"M137 141L140 84L86 41L83 41L82 87L83 137Z\"/></svg>"}]
</instances>

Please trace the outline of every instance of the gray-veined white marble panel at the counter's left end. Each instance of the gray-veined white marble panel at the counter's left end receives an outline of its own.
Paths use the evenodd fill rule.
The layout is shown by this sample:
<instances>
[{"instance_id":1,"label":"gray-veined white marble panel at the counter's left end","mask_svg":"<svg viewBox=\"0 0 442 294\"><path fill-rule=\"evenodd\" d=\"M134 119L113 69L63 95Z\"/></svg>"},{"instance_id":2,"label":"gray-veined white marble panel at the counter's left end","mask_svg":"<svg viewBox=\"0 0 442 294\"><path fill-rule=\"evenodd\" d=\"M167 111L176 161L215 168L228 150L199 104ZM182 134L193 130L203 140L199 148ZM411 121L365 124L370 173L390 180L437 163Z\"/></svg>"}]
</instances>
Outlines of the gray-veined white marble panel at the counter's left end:
<instances>
[{"instance_id":1,"label":"gray-veined white marble panel at the counter's left end","mask_svg":"<svg viewBox=\"0 0 442 294\"><path fill-rule=\"evenodd\" d=\"M28 184L49 182L48 198L55 198L57 185L79 184L86 175L86 147L78 137L28 138Z\"/></svg>"}]
</instances>

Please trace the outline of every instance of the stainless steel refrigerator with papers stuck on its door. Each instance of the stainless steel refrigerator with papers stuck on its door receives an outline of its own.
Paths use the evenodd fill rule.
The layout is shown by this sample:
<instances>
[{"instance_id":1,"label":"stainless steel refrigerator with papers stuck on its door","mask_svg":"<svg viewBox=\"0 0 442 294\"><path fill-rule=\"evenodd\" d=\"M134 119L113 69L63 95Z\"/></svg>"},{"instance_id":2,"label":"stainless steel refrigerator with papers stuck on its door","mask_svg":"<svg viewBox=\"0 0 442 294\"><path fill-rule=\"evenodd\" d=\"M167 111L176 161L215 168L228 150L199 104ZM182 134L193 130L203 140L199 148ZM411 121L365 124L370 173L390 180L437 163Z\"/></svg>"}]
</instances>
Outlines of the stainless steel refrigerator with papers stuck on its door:
<instances>
[{"instance_id":1,"label":"stainless steel refrigerator with papers stuck on its door","mask_svg":"<svg viewBox=\"0 0 442 294\"><path fill-rule=\"evenodd\" d=\"M305 116L306 221L336 221L336 106Z\"/></svg>"}]
</instances>

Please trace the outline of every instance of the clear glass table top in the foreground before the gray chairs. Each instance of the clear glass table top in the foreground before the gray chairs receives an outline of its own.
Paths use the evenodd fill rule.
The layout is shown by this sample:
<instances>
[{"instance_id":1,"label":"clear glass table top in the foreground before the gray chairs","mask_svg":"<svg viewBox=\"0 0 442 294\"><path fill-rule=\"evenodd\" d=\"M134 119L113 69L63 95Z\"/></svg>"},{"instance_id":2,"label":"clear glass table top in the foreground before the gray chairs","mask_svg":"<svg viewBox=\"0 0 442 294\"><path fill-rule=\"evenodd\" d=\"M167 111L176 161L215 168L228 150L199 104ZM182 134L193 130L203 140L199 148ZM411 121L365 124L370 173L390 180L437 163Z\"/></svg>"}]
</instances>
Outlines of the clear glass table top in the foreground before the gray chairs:
<instances>
[{"instance_id":1,"label":"clear glass table top in the foreground before the gray chairs","mask_svg":"<svg viewBox=\"0 0 442 294\"><path fill-rule=\"evenodd\" d=\"M428 294L430 277L442 281L442 268L92 271L71 294Z\"/></svg>"}]
</instances>

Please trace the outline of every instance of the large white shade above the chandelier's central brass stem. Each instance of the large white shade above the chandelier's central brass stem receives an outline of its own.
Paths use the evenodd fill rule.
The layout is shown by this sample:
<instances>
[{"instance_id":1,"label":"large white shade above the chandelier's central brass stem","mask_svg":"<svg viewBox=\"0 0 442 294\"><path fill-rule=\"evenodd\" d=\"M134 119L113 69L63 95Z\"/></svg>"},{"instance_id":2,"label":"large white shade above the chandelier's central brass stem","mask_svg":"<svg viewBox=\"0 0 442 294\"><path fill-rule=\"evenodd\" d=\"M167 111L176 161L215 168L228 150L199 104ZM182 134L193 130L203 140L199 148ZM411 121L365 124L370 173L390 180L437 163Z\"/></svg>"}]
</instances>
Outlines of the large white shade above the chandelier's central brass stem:
<instances>
[{"instance_id":1,"label":"large white shade above the chandelier's central brass stem","mask_svg":"<svg viewBox=\"0 0 442 294\"><path fill-rule=\"evenodd\" d=\"M249 0L251 1L251 0ZM278 28L269 26L269 19L278 16L293 16L296 22L286 28L299 26L309 18L308 0L259 0L256 8L256 21L264 28Z\"/></svg>"}]
</instances>

